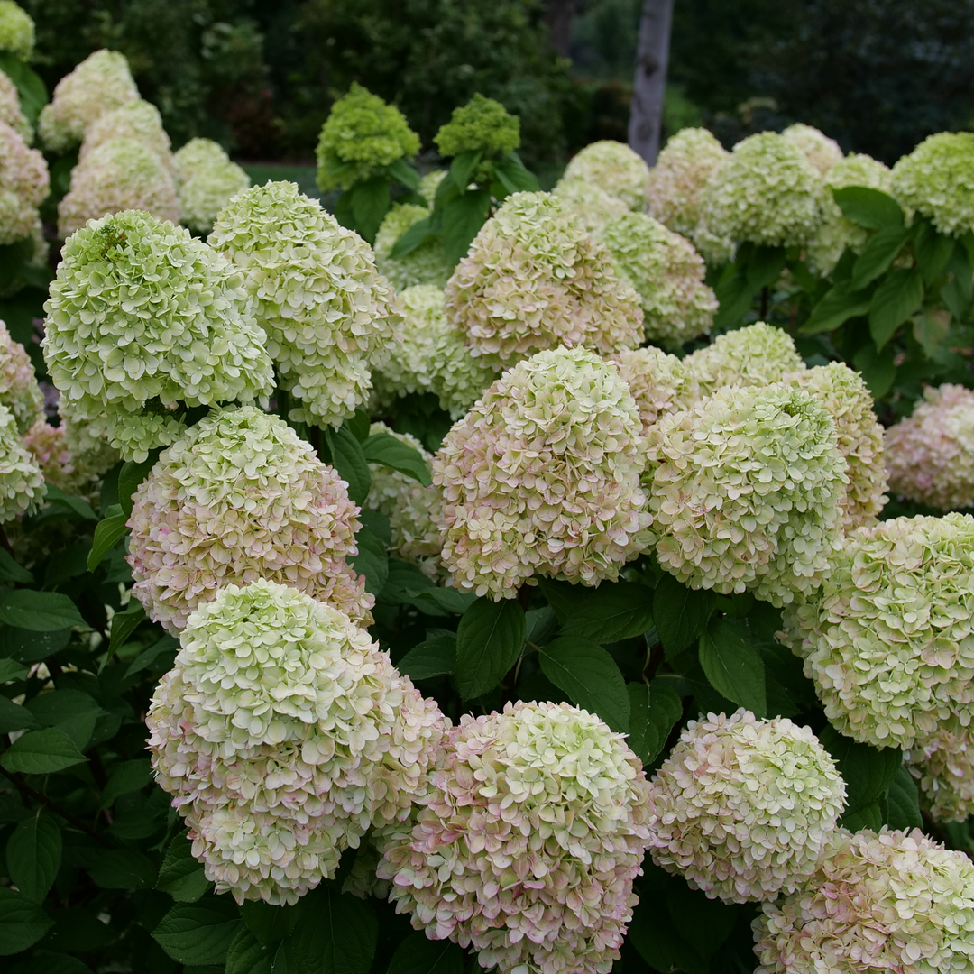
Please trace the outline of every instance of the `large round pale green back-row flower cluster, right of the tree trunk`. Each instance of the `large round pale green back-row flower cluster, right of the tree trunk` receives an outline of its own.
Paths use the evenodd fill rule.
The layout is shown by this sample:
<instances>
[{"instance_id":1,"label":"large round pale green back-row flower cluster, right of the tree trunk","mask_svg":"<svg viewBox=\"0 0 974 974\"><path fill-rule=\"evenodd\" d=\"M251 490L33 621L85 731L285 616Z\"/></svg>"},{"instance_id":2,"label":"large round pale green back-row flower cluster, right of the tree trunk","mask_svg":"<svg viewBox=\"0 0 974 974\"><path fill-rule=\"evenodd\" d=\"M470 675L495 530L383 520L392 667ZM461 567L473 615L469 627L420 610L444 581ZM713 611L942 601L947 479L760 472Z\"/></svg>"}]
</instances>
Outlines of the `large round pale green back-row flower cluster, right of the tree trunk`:
<instances>
[{"instance_id":1,"label":"large round pale green back-row flower cluster, right of the tree trunk","mask_svg":"<svg viewBox=\"0 0 974 974\"><path fill-rule=\"evenodd\" d=\"M703 191L711 235L762 246L805 244L822 222L822 201L817 170L773 131L738 142Z\"/></svg>"}]
</instances>

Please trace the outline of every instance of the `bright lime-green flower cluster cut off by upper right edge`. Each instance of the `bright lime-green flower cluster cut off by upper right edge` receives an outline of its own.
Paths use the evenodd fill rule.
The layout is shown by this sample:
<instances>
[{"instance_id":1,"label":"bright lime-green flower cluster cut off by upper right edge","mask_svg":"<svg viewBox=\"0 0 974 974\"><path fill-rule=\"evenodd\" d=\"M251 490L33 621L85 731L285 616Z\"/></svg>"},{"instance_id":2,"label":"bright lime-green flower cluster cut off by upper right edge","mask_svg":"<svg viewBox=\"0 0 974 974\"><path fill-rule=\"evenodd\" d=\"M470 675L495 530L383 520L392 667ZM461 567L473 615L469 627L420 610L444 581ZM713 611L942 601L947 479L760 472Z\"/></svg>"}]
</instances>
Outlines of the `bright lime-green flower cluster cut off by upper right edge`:
<instances>
[{"instance_id":1,"label":"bright lime-green flower cluster cut off by upper right edge","mask_svg":"<svg viewBox=\"0 0 974 974\"><path fill-rule=\"evenodd\" d=\"M974 132L941 131L893 167L891 192L948 237L974 229Z\"/></svg>"}]
</instances>

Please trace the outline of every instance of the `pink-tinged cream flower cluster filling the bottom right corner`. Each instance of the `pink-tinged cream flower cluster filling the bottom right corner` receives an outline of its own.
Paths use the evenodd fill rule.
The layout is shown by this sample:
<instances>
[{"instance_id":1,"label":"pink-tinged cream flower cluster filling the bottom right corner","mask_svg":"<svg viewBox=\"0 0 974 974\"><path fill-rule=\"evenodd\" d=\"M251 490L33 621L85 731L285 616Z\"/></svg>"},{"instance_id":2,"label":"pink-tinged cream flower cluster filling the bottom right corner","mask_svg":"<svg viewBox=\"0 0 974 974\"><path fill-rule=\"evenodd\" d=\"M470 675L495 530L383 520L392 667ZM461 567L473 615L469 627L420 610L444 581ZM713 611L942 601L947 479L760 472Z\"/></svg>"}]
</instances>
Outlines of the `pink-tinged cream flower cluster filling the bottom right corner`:
<instances>
[{"instance_id":1,"label":"pink-tinged cream flower cluster filling the bottom right corner","mask_svg":"<svg viewBox=\"0 0 974 974\"><path fill-rule=\"evenodd\" d=\"M919 829L839 830L815 875L762 911L755 974L974 970L974 864Z\"/></svg>"}]
</instances>

